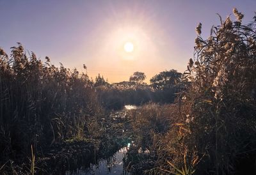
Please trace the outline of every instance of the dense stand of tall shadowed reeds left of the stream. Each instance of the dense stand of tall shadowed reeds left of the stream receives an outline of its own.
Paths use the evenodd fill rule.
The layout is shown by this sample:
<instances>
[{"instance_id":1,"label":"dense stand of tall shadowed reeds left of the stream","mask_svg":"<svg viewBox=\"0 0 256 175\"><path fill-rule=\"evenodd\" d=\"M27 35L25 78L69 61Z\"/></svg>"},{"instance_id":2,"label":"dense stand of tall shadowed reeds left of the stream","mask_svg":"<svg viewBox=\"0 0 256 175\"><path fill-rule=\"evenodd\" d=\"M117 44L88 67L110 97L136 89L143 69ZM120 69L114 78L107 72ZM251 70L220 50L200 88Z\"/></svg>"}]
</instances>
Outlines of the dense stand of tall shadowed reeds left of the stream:
<instances>
[{"instance_id":1,"label":"dense stand of tall shadowed reeds left of the stream","mask_svg":"<svg viewBox=\"0 0 256 175\"><path fill-rule=\"evenodd\" d=\"M0 49L0 100L1 158L83 137L88 118L102 112L88 75L43 63L20 43L10 56Z\"/></svg>"}]
</instances>

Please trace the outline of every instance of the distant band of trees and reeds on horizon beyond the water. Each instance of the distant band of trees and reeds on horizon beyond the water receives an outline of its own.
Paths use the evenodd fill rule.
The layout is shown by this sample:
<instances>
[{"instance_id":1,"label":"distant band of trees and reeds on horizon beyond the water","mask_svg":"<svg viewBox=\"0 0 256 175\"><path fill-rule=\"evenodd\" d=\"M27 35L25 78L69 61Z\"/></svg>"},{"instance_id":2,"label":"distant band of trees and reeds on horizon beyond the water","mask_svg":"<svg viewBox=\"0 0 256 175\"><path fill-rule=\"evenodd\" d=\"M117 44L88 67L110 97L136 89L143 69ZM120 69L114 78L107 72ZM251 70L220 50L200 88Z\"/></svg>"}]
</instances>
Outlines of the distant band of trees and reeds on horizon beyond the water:
<instances>
[{"instance_id":1,"label":"distant band of trees and reeds on horizon beyond the water","mask_svg":"<svg viewBox=\"0 0 256 175\"><path fill-rule=\"evenodd\" d=\"M142 105L148 102L173 103L177 93L184 89L186 82L182 80L182 73L176 70L160 72L150 84L143 83L145 73L134 72L129 82L109 84L104 77L98 75L95 88L99 100L106 109L122 109L124 105Z\"/></svg>"}]
</instances>

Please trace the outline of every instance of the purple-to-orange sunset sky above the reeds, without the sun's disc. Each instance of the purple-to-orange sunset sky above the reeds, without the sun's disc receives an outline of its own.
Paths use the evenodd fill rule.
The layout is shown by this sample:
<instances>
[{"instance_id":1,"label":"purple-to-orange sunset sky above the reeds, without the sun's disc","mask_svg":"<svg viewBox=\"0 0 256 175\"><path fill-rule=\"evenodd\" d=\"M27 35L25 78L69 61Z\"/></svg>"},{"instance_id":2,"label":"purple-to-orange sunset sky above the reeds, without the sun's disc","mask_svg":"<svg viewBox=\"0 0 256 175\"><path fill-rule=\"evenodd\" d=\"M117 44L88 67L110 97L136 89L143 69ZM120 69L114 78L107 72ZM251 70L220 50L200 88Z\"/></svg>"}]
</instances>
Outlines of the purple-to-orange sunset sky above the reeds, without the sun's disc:
<instances>
[{"instance_id":1,"label":"purple-to-orange sunset sky above the reeds, without the sun's disc","mask_svg":"<svg viewBox=\"0 0 256 175\"><path fill-rule=\"evenodd\" d=\"M250 22L255 0L0 0L0 47L10 53L17 42L52 64L70 69L88 67L89 77L100 73L109 82L129 80L144 72L145 82L164 70L184 72L195 45L195 27L202 36L232 14L244 13ZM235 20L234 15L231 15ZM132 52L124 45L131 42Z\"/></svg>"}]
</instances>

